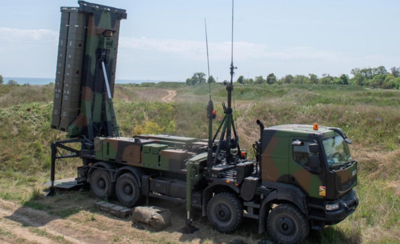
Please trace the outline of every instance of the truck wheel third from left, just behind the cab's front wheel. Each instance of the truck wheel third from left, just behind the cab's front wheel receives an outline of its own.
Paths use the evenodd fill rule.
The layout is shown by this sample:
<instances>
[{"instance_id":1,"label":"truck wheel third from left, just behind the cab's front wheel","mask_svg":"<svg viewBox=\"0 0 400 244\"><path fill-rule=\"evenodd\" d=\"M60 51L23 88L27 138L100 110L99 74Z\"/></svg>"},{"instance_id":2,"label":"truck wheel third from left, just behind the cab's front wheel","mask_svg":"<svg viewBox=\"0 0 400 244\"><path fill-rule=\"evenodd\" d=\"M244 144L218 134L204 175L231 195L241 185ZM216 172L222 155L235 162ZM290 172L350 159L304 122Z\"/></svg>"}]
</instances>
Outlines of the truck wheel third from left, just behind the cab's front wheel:
<instances>
[{"instance_id":1,"label":"truck wheel third from left, just behind the cab's front wheel","mask_svg":"<svg viewBox=\"0 0 400 244\"><path fill-rule=\"evenodd\" d=\"M211 224L220 232L231 232L243 221L243 206L235 195L227 192L215 195L207 207Z\"/></svg>"}]
</instances>

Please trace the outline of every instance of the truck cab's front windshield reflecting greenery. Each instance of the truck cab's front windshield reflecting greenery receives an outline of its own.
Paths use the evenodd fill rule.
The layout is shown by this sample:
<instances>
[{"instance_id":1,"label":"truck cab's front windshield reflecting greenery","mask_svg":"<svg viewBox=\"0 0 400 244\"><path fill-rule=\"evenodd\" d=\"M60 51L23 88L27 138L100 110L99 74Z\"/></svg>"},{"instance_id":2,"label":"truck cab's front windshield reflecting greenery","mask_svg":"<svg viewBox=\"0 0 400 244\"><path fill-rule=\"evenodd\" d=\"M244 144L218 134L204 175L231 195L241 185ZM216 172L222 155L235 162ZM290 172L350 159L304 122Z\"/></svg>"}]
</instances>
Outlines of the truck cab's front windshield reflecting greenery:
<instances>
[{"instance_id":1,"label":"truck cab's front windshield reflecting greenery","mask_svg":"<svg viewBox=\"0 0 400 244\"><path fill-rule=\"evenodd\" d=\"M323 139L327 162L331 170L352 161L349 145L341 136Z\"/></svg>"}]
</instances>

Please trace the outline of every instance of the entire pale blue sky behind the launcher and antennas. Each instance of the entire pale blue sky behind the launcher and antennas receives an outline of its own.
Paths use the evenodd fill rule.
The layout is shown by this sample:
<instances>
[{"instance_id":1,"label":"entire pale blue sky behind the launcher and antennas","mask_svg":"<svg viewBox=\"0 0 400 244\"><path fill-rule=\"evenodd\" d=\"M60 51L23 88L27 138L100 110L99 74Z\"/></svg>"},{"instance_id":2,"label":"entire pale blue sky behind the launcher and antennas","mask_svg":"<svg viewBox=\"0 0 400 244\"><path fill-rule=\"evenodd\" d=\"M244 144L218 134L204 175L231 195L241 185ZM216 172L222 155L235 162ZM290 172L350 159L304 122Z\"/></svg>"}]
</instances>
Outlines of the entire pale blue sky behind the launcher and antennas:
<instances>
[{"instance_id":1,"label":"entire pale blue sky behind the launcher and antennas","mask_svg":"<svg viewBox=\"0 0 400 244\"><path fill-rule=\"evenodd\" d=\"M60 6L77 0L0 0L0 74L55 77ZM96 0L127 10L117 79L184 81L207 71L229 80L231 0ZM350 74L400 66L399 0L235 0L233 63L239 75Z\"/></svg>"}]
</instances>

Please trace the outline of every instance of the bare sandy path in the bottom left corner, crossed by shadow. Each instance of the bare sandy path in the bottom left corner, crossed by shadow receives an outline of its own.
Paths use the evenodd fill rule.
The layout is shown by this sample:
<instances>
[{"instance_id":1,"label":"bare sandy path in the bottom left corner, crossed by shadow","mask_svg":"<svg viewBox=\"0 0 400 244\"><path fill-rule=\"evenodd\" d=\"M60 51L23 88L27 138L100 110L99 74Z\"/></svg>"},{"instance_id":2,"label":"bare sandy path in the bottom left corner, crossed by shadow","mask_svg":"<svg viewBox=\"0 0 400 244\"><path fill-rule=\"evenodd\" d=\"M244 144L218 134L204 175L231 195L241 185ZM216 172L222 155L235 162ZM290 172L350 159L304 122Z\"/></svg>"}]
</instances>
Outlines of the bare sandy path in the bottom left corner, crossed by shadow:
<instances>
[{"instance_id":1,"label":"bare sandy path in the bottom left corner, crossed by shadow","mask_svg":"<svg viewBox=\"0 0 400 244\"><path fill-rule=\"evenodd\" d=\"M0 199L0 243L107 244L114 234Z\"/></svg>"}]
</instances>

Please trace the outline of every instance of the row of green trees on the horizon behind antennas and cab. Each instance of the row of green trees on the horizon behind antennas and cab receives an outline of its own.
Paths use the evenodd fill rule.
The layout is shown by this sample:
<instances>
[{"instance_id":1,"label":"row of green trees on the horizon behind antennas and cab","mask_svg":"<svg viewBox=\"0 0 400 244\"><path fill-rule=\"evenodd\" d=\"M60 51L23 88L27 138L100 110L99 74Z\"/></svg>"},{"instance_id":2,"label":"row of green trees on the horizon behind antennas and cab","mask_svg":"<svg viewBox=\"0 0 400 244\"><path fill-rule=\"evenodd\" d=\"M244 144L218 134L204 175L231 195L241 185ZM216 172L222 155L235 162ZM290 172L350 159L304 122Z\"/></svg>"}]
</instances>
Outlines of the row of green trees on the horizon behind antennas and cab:
<instances>
[{"instance_id":1,"label":"row of green trees on the horizon behind antennas and cab","mask_svg":"<svg viewBox=\"0 0 400 244\"><path fill-rule=\"evenodd\" d=\"M316 74L287 74L277 78L274 73L270 73L266 78L262 75L255 78L245 78L240 75L236 80L240 84L325 84L325 85L358 85L365 87L374 87L382 89L400 89L400 67L392 67L389 71L384 66L377 68L355 68L350 71L353 77L347 74L340 76L331 76L324 73L321 77ZM193 73L191 78L186 79L186 85L195 85L196 83L205 83L206 74L203 72ZM211 75L207 82L215 82Z\"/></svg>"}]
</instances>

